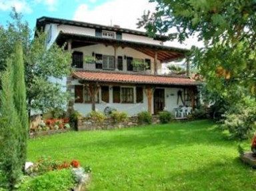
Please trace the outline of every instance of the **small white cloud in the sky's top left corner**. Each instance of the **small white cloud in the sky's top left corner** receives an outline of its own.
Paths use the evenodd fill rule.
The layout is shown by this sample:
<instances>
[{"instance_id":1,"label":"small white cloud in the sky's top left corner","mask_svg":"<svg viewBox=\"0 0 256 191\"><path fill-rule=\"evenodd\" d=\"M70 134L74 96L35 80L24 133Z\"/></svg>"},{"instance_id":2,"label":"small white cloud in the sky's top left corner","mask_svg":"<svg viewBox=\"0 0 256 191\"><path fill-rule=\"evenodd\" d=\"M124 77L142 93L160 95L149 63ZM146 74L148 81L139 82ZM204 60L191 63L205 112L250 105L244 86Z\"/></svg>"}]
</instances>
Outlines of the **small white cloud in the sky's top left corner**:
<instances>
[{"instance_id":1,"label":"small white cloud in the sky's top left corner","mask_svg":"<svg viewBox=\"0 0 256 191\"><path fill-rule=\"evenodd\" d=\"M25 0L0 0L0 10L9 11L12 7L15 7L18 13L32 13Z\"/></svg>"}]
</instances>

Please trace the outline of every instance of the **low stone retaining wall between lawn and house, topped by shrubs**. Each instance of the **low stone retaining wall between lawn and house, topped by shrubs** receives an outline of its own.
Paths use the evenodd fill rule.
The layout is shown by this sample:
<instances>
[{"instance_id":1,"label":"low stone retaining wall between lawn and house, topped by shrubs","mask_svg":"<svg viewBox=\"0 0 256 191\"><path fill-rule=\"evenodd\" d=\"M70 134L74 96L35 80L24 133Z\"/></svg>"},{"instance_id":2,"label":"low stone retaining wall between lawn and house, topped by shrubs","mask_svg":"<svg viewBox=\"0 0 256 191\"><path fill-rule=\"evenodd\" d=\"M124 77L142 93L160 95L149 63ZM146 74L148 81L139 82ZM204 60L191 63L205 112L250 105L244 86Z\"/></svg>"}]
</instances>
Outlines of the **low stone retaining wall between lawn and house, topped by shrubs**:
<instances>
[{"instance_id":1,"label":"low stone retaining wall between lawn and house, topped by shrubs","mask_svg":"<svg viewBox=\"0 0 256 191\"><path fill-rule=\"evenodd\" d=\"M159 116L152 116L152 124L159 124ZM137 116L127 118L125 122L116 123L113 118L107 118L103 122L95 122L90 118L77 120L77 130L106 130L115 128L127 128L131 126L140 126Z\"/></svg>"}]
</instances>

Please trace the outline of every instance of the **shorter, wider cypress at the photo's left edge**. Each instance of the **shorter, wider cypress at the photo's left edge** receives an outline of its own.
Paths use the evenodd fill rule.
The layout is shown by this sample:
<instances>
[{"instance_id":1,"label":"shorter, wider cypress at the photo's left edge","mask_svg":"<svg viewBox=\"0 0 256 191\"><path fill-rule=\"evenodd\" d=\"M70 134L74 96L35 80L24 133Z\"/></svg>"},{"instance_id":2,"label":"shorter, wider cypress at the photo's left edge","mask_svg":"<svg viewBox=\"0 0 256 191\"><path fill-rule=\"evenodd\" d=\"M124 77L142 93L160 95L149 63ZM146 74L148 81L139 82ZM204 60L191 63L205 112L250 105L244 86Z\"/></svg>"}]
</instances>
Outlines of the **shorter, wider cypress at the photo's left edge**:
<instances>
[{"instance_id":1,"label":"shorter, wider cypress at the photo's left edge","mask_svg":"<svg viewBox=\"0 0 256 191\"><path fill-rule=\"evenodd\" d=\"M0 186L10 190L21 176L19 161L19 128L13 95L13 65L8 62L7 69L1 75L1 117L0 117Z\"/></svg>"}]
</instances>

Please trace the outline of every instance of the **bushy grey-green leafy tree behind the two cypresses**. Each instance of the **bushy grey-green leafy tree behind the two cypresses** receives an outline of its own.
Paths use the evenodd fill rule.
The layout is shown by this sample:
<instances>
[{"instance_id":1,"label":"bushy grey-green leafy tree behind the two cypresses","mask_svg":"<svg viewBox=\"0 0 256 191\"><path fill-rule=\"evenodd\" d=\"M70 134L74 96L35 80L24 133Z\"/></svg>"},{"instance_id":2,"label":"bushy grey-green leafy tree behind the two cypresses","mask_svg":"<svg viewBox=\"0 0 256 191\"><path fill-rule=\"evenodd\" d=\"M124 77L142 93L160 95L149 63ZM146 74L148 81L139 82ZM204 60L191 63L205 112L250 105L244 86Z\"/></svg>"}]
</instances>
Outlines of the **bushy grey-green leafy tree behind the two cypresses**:
<instances>
[{"instance_id":1,"label":"bushy grey-green leafy tree behind the two cypresses","mask_svg":"<svg viewBox=\"0 0 256 191\"><path fill-rule=\"evenodd\" d=\"M59 47L55 43L47 49L47 34L35 31L34 35L27 22L22 22L22 15L15 10L11 13L11 18L13 20L7 23L7 27L0 27L0 66L7 65L9 55L15 52L15 42L21 41L28 115L30 116L31 110L47 112L54 107L63 107L69 96L62 91L63 87L59 83L49 81L49 77L61 80L69 75L70 53L65 51L64 46Z\"/></svg>"}]
</instances>

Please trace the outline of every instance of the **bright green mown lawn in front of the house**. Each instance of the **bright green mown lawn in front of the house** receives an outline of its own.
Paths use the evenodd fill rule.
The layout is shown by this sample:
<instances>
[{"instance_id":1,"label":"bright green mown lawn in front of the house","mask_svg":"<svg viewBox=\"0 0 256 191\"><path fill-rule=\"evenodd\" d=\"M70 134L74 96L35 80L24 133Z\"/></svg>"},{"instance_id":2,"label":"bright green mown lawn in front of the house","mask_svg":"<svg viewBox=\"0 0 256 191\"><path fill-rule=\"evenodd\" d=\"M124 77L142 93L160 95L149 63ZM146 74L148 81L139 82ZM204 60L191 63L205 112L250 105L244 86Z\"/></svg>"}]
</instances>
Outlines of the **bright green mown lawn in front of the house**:
<instances>
[{"instance_id":1,"label":"bright green mown lawn in front of the house","mask_svg":"<svg viewBox=\"0 0 256 191\"><path fill-rule=\"evenodd\" d=\"M207 120L45 136L29 140L28 155L91 166L89 190L256 189L237 142Z\"/></svg>"}]
</instances>

